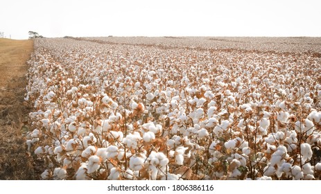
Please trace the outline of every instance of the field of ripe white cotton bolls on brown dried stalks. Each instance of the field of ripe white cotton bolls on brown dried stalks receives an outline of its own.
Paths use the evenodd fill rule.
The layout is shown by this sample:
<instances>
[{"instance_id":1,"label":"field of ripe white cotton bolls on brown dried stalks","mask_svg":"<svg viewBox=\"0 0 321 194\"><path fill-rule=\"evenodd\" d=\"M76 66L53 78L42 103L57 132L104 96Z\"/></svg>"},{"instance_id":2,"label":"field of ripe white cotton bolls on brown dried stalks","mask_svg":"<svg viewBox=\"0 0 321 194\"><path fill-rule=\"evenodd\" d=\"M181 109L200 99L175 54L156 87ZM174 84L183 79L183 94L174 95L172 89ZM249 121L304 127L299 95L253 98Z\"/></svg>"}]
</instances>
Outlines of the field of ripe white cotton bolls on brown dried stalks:
<instances>
[{"instance_id":1,"label":"field of ripe white cotton bolls on brown dried stalks","mask_svg":"<svg viewBox=\"0 0 321 194\"><path fill-rule=\"evenodd\" d=\"M320 44L145 41L35 40L26 143L42 179L320 179Z\"/></svg>"}]
</instances>

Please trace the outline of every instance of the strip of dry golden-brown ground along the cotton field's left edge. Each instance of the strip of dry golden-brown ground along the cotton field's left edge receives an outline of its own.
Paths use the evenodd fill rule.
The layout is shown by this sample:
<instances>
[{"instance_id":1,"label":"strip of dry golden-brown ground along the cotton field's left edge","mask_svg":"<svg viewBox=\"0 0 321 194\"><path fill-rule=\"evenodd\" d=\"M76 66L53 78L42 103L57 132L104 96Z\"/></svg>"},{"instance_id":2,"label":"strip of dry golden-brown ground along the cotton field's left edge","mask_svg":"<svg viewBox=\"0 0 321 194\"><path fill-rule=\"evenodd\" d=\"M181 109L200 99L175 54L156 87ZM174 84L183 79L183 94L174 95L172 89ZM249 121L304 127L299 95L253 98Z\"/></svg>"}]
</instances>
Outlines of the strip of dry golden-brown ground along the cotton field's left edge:
<instances>
[{"instance_id":1,"label":"strip of dry golden-brown ground along the cotton field's left edge","mask_svg":"<svg viewBox=\"0 0 321 194\"><path fill-rule=\"evenodd\" d=\"M28 114L26 60L32 51L32 40L0 39L0 179L37 179L21 135Z\"/></svg>"}]
</instances>

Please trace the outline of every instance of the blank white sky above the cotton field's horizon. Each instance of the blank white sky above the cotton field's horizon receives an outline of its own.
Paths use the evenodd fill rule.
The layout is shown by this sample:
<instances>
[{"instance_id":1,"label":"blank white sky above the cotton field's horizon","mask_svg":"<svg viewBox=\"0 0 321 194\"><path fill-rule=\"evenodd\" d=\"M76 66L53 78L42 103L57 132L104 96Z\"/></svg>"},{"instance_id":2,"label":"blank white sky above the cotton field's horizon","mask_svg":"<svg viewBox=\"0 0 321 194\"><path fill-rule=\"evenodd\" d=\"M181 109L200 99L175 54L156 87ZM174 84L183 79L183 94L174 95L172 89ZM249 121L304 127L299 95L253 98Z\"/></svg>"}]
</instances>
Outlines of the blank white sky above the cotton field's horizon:
<instances>
[{"instance_id":1,"label":"blank white sky above the cotton field's horizon","mask_svg":"<svg viewBox=\"0 0 321 194\"><path fill-rule=\"evenodd\" d=\"M0 32L97 36L321 37L320 0L0 0Z\"/></svg>"}]
</instances>

